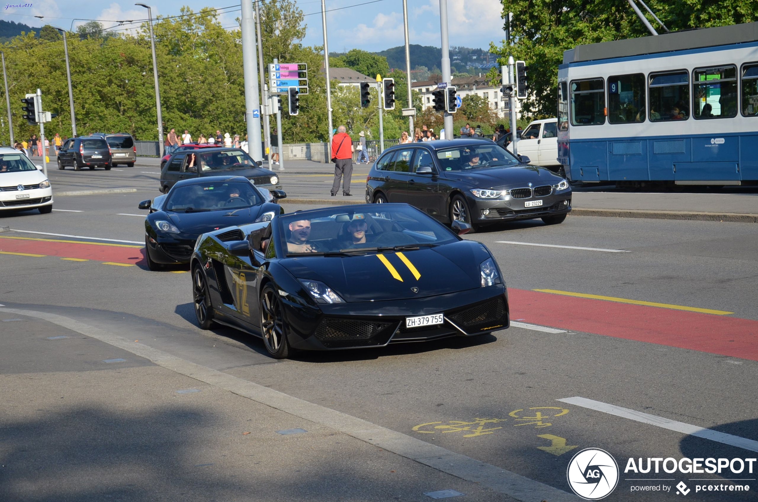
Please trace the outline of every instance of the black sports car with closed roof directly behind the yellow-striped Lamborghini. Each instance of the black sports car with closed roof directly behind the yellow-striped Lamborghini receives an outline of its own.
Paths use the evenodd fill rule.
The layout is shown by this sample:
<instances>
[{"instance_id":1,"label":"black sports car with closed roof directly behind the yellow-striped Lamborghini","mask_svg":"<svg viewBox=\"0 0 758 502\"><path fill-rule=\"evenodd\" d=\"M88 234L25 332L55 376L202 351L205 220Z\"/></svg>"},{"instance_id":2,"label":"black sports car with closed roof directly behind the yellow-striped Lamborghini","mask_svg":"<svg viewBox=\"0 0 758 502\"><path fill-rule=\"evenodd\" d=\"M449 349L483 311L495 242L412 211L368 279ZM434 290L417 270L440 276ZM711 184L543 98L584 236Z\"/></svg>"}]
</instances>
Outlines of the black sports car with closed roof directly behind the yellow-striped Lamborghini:
<instances>
[{"instance_id":1,"label":"black sports car with closed roof directly behind the yellow-striped Lamborghini","mask_svg":"<svg viewBox=\"0 0 758 502\"><path fill-rule=\"evenodd\" d=\"M177 182L152 201L142 201L145 218L145 257L150 270L170 263L187 263L199 235L230 225L271 221L283 212L272 200L285 198L280 190L258 189L243 176L208 176ZM236 240L236 232L219 239Z\"/></svg>"}]
</instances>

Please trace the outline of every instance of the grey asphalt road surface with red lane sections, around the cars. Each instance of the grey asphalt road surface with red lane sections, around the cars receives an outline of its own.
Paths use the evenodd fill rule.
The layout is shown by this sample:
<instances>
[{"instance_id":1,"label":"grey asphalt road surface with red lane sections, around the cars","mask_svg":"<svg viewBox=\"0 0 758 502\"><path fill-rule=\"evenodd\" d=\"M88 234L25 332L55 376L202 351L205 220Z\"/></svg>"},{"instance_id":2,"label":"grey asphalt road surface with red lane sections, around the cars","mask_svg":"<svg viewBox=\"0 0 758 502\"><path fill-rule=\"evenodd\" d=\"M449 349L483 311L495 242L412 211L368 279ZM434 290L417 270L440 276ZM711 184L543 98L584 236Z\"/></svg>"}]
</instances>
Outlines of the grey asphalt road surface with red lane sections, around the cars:
<instances>
[{"instance_id":1,"label":"grey asphalt road surface with red lane sections, around the cars","mask_svg":"<svg viewBox=\"0 0 758 502\"><path fill-rule=\"evenodd\" d=\"M115 171L137 192L0 216L0 500L581 500L584 448L618 463L607 500L758 500L758 463L628 469L758 457L753 224L500 226L468 238L500 263L509 329L275 361L196 326L186 267L146 270L138 168ZM105 172L76 174L51 171L70 191Z\"/></svg>"}]
</instances>

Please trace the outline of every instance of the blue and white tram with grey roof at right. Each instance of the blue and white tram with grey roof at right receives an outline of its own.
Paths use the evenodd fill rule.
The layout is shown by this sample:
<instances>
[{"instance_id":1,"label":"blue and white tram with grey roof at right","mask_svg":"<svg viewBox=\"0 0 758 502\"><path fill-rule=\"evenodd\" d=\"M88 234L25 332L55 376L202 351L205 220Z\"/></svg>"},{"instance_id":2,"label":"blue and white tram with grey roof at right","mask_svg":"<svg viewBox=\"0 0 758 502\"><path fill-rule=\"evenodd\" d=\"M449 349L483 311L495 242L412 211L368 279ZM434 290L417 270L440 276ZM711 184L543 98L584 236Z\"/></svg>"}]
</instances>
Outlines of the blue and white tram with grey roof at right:
<instances>
[{"instance_id":1,"label":"blue and white tram with grey roof at right","mask_svg":"<svg viewBox=\"0 0 758 502\"><path fill-rule=\"evenodd\" d=\"M758 183L758 23L579 45L558 86L574 181Z\"/></svg>"}]
</instances>

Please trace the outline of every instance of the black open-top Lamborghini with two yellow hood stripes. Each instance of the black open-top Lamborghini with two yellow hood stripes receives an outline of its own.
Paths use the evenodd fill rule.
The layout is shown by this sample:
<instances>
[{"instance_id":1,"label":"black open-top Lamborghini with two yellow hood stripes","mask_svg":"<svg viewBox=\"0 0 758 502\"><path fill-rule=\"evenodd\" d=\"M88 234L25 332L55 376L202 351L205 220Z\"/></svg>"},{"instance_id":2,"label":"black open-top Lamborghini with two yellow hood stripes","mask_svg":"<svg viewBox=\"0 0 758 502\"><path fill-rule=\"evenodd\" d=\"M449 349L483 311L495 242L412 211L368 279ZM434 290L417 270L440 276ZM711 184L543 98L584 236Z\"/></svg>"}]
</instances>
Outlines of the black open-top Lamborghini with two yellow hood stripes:
<instances>
[{"instance_id":1,"label":"black open-top Lamborghini with two yellow hood stripes","mask_svg":"<svg viewBox=\"0 0 758 502\"><path fill-rule=\"evenodd\" d=\"M503 276L486 246L459 237L468 229L365 204L208 232L190 265L198 323L261 336L275 358L506 329Z\"/></svg>"}]
</instances>

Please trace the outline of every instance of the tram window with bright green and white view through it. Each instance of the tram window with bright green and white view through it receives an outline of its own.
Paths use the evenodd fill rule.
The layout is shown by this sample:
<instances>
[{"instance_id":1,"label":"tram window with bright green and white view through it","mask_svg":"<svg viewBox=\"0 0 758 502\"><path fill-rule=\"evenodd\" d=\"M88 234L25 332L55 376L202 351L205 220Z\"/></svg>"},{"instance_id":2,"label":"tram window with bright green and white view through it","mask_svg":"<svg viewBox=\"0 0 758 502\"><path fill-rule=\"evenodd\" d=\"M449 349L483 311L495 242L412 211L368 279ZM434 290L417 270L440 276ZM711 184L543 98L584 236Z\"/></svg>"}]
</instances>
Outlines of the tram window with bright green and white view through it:
<instances>
[{"instance_id":1,"label":"tram window with bright green and white view through it","mask_svg":"<svg viewBox=\"0 0 758 502\"><path fill-rule=\"evenodd\" d=\"M694 70L692 93L696 119L737 117L737 67Z\"/></svg>"}]
</instances>

